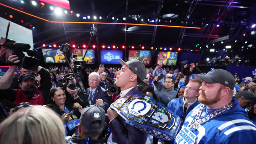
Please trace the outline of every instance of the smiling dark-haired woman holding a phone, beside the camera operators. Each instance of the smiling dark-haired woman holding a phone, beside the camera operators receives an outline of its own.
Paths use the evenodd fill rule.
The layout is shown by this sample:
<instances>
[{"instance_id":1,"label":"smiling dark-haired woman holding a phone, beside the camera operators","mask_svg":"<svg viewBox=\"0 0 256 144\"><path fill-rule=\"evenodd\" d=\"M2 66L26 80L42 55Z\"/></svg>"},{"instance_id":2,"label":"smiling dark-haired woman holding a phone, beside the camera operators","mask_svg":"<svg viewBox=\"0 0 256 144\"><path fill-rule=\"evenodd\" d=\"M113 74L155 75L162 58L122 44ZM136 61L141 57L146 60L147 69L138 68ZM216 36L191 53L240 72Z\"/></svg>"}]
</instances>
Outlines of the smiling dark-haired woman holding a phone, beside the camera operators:
<instances>
[{"instance_id":1,"label":"smiling dark-haired woman holding a phone, beside the camera operators","mask_svg":"<svg viewBox=\"0 0 256 144\"><path fill-rule=\"evenodd\" d=\"M79 118L82 107L77 102L72 106L65 102L65 100L65 92L60 87L55 87L49 92L49 104L46 106L59 114L60 119L64 123L66 135L71 136L75 132L78 123L80 123Z\"/></svg>"}]
</instances>

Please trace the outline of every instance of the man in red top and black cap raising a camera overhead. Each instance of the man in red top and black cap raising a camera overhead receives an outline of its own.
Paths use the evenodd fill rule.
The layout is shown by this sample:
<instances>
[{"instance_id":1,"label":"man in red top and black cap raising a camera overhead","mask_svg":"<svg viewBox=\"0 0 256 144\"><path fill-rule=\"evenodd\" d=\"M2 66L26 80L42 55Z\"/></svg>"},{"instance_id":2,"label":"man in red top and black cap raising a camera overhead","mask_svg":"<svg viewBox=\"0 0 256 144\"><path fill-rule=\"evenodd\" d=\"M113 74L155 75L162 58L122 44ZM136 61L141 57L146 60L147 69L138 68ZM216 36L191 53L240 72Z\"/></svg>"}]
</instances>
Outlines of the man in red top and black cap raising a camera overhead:
<instances>
[{"instance_id":1,"label":"man in red top and black cap raising a camera overhead","mask_svg":"<svg viewBox=\"0 0 256 144\"><path fill-rule=\"evenodd\" d=\"M34 76L31 74L23 74L19 77L19 86L21 89L11 89L11 81L17 64L20 62L17 55L10 55L8 58L12 65L6 71L5 75L0 79L0 96L5 97L16 105L21 102L29 102L32 105L45 105L48 94L52 85L50 73L38 66L37 73L41 77L41 86L36 87Z\"/></svg>"}]
</instances>

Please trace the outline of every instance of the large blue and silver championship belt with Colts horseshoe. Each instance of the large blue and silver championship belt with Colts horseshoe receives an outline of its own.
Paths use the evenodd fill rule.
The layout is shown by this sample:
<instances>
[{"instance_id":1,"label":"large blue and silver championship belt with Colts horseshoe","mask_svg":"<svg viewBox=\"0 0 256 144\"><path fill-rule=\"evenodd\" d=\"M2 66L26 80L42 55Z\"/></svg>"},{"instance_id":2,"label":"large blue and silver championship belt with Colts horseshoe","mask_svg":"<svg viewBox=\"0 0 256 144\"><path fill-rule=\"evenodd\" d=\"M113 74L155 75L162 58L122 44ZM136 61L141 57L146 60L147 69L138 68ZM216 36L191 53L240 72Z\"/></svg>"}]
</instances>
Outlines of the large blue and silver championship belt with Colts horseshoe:
<instances>
[{"instance_id":1,"label":"large blue and silver championship belt with Colts horseshoe","mask_svg":"<svg viewBox=\"0 0 256 144\"><path fill-rule=\"evenodd\" d=\"M127 95L111 106L126 123L163 140L174 140L181 119L147 95Z\"/></svg>"}]
</instances>

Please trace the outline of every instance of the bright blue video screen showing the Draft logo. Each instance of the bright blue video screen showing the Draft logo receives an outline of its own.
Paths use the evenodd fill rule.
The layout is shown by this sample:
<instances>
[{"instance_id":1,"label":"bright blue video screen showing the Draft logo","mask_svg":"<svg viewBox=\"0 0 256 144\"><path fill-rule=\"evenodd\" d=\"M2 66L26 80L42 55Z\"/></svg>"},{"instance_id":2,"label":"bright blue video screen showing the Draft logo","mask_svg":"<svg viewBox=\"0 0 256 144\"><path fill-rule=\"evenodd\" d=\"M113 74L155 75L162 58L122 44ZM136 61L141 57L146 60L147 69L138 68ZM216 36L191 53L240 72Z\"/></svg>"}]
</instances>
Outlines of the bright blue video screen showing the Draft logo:
<instances>
[{"instance_id":1,"label":"bright blue video screen showing the Draft logo","mask_svg":"<svg viewBox=\"0 0 256 144\"><path fill-rule=\"evenodd\" d=\"M123 50L101 50L101 64L120 64L119 58L123 59Z\"/></svg>"}]
</instances>

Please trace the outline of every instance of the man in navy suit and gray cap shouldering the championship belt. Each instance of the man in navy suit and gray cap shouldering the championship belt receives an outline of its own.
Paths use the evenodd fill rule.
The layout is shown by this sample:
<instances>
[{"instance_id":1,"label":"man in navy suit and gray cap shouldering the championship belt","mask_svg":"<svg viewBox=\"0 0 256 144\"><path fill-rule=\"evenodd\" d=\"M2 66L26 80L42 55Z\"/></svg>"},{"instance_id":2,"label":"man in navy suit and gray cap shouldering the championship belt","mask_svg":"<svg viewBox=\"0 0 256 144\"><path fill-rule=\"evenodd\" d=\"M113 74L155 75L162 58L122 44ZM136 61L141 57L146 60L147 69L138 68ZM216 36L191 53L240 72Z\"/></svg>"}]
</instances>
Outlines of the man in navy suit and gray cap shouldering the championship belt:
<instances>
[{"instance_id":1,"label":"man in navy suit and gray cap shouldering the championship belt","mask_svg":"<svg viewBox=\"0 0 256 144\"><path fill-rule=\"evenodd\" d=\"M123 65L121 70L117 71L116 86L120 87L121 93L117 97L126 95L142 94L139 91L138 84L146 78L146 68L138 59L131 59L124 62L119 58L119 62ZM108 142L118 144L145 144L148 134L130 126L125 120L118 116L117 112L107 110L108 118L110 119L109 127L111 130Z\"/></svg>"}]
</instances>

